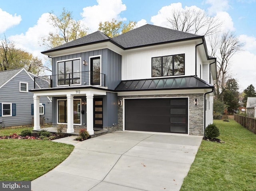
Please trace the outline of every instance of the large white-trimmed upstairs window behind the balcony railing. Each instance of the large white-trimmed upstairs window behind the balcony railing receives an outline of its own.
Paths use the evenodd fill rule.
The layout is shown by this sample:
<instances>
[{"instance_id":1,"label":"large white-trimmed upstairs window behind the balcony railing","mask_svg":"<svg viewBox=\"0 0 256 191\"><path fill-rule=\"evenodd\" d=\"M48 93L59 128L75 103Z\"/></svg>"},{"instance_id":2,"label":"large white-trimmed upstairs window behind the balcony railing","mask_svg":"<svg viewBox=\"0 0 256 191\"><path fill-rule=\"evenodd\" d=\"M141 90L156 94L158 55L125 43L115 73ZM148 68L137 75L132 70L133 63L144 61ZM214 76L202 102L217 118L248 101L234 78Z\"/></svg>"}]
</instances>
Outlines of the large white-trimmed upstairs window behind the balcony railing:
<instances>
[{"instance_id":1,"label":"large white-trimmed upstairs window behind the balcony railing","mask_svg":"<svg viewBox=\"0 0 256 191\"><path fill-rule=\"evenodd\" d=\"M80 84L80 59L60 61L58 67L58 85Z\"/></svg>"}]
</instances>

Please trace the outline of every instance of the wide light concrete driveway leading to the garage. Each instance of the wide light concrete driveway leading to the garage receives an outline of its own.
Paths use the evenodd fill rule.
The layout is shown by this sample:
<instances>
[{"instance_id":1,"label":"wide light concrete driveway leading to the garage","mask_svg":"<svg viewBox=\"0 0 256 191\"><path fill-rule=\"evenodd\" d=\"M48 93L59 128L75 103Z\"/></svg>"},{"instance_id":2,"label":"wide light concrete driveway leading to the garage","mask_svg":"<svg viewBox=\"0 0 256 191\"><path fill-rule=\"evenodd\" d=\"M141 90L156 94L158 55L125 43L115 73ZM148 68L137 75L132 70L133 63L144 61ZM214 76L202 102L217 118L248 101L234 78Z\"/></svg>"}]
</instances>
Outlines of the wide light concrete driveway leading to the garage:
<instances>
[{"instance_id":1,"label":"wide light concrete driveway leading to the garage","mask_svg":"<svg viewBox=\"0 0 256 191\"><path fill-rule=\"evenodd\" d=\"M118 131L76 144L33 191L179 191L202 137Z\"/></svg>"}]
</instances>

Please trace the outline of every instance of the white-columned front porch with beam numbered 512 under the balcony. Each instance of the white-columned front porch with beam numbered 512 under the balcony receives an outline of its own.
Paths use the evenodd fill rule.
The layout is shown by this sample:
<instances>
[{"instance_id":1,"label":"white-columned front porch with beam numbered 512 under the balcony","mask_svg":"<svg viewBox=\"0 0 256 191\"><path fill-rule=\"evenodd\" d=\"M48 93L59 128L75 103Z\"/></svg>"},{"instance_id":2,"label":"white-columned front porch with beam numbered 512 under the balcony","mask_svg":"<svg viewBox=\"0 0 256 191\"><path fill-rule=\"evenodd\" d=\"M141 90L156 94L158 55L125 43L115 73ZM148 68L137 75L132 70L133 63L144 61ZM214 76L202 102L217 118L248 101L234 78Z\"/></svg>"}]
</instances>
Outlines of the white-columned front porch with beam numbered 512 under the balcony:
<instances>
[{"instance_id":1,"label":"white-columned front porch with beam numbered 512 under the balcony","mask_svg":"<svg viewBox=\"0 0 256 191\"><path fill-rule=\"evenodd\" d=\"M94 97L106 96L106 90L94 89L94 88L78 88L78 87L66 87L63 89L34 89L34 130L40 130L40 96L49 96L52 98L63 98L65 100L65 118L66 121L60 122L56 120L56 124L66 124L66 133L77 133L78 128L74 126L86 126L90 135L94 134ZM55 104L55 105L54 105ZM52 105L53 116L56 119L59 117L56 102ZM74 110L74 104L76 104L78 110ZM79 104L79 105L78 105ZM85 110L82 110L82 105ZM85 106L86 105L86 106ZM80 114L80 124L74 123L74 113ZM83 123L82 123L83 120ZM76 130L76 131L75 131Z\"/></svg>"}]
</instances>

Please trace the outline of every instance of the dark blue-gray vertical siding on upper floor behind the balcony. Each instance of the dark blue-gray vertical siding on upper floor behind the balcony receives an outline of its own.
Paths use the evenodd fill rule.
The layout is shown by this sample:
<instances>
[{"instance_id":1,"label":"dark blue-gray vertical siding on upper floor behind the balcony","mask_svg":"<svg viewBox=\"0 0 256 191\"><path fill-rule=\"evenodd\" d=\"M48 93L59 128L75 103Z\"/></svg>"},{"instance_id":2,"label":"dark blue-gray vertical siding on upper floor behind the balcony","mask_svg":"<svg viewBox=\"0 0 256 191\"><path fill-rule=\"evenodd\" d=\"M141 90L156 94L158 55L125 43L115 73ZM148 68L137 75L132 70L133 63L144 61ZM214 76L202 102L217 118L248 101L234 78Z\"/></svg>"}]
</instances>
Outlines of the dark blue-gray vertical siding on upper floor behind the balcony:
<instances>
[{"instance_id":1,"label":"dark blue-gray vertical siding on upper floor behind the balcony","mask_svg":"<svg viewBox=\"0 0 256 191\"><path fill-rule=\"evenodd\" d=\"M81 71L89 71L89 57L97 55L101 55L101 69L102 73L106 75L106 86L108 87L108 89L113 90L121 81L122 56L111 51L110 49L99 49L77 54L70 54L66 56L54 57L52 58L52 74L57 74L57 61L75 58L81 58L81 61L86 60L88 64L84 66L81 63ZM83 82L82 85L84 85Z\"/></svg>"}]
</instances>

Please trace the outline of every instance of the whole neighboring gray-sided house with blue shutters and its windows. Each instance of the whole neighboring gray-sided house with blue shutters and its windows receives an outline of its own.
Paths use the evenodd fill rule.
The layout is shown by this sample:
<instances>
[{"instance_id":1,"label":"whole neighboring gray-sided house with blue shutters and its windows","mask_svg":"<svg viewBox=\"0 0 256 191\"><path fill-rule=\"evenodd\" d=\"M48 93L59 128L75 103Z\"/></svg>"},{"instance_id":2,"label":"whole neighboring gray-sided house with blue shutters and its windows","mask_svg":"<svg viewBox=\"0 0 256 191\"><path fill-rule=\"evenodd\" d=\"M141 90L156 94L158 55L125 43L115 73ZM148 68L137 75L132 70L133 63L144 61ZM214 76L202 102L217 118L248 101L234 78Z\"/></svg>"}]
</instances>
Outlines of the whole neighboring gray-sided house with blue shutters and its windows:
<instances>
[{"instance_id":1,"label":"whole neighboring gray-sided house with blue shutters and its windows","mask_svg":"<svg viewBox=\"0 0 256 191\"><path fill-rule=\"evenodd\" d=\"M34 77L24 68L0 71L0 126L31 125L34 117ZM52 101L40 98L40 118L52 122Z\"/></svg>"}]
</instances>

